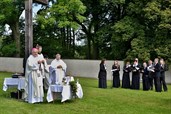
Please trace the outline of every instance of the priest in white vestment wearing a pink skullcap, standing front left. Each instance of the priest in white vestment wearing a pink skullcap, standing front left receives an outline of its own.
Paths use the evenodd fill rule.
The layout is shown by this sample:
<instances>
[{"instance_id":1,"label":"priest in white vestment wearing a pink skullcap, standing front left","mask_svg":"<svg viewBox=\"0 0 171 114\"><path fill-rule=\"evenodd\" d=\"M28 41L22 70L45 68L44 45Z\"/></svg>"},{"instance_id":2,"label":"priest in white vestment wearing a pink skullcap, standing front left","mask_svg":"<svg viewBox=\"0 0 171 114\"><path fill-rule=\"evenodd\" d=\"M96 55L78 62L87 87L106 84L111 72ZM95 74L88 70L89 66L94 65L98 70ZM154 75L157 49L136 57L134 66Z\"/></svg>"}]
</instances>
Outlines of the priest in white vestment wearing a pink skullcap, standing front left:
<instances>
[{"instance_id":1,"label":"priest in white vestment wearing a pink skullcap, standing front left","mask_svg":"<svg viewBox=\"0 0 171 114\"><path fill-rule=\"evenodd\" d=\"M24 99L28 103L43 102L43 76L40 65L43 61L38 56L38 50L32 49L32 54L26 63Z\"/></svg>"}]
</instances>

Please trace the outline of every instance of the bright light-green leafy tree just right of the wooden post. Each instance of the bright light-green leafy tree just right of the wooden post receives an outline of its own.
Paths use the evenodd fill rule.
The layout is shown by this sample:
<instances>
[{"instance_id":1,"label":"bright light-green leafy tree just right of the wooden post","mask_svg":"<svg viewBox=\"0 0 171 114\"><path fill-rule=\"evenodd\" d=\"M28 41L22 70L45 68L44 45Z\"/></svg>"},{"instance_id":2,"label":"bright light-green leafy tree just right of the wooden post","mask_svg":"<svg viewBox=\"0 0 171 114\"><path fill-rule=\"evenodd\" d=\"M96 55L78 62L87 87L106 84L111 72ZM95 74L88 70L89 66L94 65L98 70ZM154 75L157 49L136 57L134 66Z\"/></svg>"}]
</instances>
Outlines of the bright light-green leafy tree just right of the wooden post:
<instances>
[{"instance_id":1,"label":"bright light-green leafy tree just right of the wooden post","mask_svg":"<svg viewBox=\"0 0 171 114\"><path fill-rule=\"evenodd\" d=\"M85 7L79 0L59 0L52 7L41 9L36 19L37 25L40 27L38 31L39 41L47 38L53 42L54 53L61 53L65 57L74 57L75 53L75 30L79 27L73 20L73 15L80 22L84 20L81 15L85 11ZM44 31L46 30L46 32ZM44 34L44 35L43 35ZM42 37L43 36L43 37ZM52 46L52 45L51 45Z\"/></svg>"}]
</instances>

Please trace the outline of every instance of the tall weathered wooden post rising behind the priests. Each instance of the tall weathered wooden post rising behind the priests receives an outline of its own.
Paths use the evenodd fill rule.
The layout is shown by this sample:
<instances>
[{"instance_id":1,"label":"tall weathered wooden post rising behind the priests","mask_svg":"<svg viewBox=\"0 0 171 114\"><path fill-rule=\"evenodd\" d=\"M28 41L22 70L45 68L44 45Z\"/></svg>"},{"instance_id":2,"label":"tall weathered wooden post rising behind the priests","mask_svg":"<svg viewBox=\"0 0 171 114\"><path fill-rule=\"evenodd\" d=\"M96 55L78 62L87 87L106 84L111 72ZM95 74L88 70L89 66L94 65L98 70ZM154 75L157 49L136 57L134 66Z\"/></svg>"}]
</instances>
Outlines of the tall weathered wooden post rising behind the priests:
<instances>
[{"instance_id":1,"label":"tall weathered wooden post rising behind the priests","mask_svg":"<svg viewBox=\"0 0 171 114\"><path fill-rule=\"evenodd\" d=\"M25 60L33 48L32 2L25 0Z\"/></svg>"}]
</instances>

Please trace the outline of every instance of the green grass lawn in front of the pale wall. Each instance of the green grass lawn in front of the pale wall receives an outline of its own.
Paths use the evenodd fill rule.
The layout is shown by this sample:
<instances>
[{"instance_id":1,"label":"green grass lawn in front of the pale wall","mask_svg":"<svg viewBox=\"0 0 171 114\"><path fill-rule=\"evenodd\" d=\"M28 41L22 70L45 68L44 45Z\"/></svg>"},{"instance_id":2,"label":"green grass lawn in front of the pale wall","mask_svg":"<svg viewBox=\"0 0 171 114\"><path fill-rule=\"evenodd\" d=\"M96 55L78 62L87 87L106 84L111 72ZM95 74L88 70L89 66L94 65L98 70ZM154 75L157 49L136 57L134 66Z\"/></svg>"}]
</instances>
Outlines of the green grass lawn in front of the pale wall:
<instances>
[{"instance_id":1,"label":"green grass lawn in front of the pale wall","mask_svg":"<svg viewBox=\"0 0 171 114\"><path fill-rule=\"evenodd\" d=\"M84 98L55 103L28 104L10 98L15 89L2 90L3 80L11 73L0 72L0 114L171 114L171 85L168 92L97 88L96 79L79 78Z\"/></svg>"}]
</instances>

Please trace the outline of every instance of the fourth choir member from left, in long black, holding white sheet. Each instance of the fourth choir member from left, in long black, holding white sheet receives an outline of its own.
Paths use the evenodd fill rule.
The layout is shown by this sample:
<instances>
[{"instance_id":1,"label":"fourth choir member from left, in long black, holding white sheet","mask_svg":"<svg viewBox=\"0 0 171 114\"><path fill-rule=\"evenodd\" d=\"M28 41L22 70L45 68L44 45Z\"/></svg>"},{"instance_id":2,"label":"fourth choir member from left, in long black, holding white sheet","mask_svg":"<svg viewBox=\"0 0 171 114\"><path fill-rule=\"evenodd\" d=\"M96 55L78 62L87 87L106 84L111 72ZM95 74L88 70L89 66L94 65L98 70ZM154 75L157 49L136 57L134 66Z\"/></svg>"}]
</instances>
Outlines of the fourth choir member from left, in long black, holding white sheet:
<instances>
[{"instance_id":1,"label":"fourth choir member from left, in long black, holding white sheet","mask_svg":"<svg viewBox=\"0 0 171 114\"><path fill-rule=\"evenodd\" d=\"M131 89L140 89L140 65L138 64L138 59L134 60L132 65L132 85Z\"/></svg>"}]
</instances>

